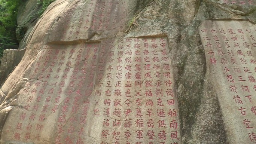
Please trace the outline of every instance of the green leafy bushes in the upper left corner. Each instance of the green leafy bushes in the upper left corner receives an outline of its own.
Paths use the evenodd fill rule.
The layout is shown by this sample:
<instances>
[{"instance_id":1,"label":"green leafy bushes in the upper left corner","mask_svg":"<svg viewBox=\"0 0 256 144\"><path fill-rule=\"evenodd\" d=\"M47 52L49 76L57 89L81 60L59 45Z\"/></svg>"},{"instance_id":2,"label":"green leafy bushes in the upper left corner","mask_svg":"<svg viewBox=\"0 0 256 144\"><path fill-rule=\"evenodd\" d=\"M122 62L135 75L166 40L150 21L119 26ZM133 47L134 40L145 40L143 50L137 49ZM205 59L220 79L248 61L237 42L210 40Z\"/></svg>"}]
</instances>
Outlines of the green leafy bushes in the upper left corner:
<instances>
[{"instance_id":1,"label":"green leafy bushes in the upper left corner","mask_svg":"<svg viewBox=\"0 0 256 144\"><path fill-rule=\"evenodd\" d=\"M34 15L25 19L21 25L17 25L18 8L27 0L0 0L0 59L3 50L18 47L27 31L28 22L40 17L46 8L55 0L37 0L38 10ZM14 46L14 47L13 47Z\"/></svg>"}]
</instances>

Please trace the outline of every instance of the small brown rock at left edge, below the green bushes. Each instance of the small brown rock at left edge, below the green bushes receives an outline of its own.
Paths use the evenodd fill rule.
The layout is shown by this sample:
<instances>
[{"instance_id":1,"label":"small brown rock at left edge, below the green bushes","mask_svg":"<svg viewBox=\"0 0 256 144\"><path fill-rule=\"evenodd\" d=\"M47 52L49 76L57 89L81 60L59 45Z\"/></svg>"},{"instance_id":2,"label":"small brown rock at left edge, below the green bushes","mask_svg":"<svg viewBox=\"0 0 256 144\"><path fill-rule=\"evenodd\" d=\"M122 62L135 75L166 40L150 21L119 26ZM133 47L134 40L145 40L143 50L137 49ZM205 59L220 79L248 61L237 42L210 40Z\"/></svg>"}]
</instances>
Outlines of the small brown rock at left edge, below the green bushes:
<instances>
[{"instance_id":1,"label":"small brown rock at left edge, below the green bushes","mask_svg":"<svg viewBox=\"0 0 256 144\"><path fill-rule=\"evenodd\" d=\"M1 67L0 67L0 85L3 84L4 80L13 71L13 68L19 64L24 53L25 53L25 50L16 50L16 49L4 50L3 58L1 59Z\"/></svg>"}]
</instances>

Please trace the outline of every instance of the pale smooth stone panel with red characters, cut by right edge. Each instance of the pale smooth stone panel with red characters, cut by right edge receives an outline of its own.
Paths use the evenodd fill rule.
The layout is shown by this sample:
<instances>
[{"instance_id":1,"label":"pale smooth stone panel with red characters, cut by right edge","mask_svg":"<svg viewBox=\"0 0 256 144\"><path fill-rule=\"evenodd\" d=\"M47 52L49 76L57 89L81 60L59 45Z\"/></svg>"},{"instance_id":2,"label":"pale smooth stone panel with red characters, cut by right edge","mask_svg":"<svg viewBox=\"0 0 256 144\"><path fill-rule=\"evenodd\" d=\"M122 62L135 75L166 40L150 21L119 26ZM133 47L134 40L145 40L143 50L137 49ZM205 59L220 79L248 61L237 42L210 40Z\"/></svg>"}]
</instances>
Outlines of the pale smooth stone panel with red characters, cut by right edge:
<instances>
[{"instance_id":1,"label":"pale smooth stone panel with red characters, cut by right edge","mask_svg":"<svg viewBox=\"0 0 256 144\"><path fill-rule=\"evenodd\" d=\"M205 21L199 32L229 141L255 144L256 26L248 21Z\"/></svg>"}]
</instances>

